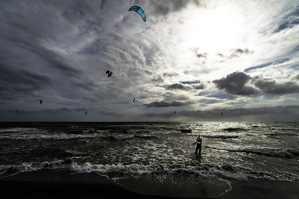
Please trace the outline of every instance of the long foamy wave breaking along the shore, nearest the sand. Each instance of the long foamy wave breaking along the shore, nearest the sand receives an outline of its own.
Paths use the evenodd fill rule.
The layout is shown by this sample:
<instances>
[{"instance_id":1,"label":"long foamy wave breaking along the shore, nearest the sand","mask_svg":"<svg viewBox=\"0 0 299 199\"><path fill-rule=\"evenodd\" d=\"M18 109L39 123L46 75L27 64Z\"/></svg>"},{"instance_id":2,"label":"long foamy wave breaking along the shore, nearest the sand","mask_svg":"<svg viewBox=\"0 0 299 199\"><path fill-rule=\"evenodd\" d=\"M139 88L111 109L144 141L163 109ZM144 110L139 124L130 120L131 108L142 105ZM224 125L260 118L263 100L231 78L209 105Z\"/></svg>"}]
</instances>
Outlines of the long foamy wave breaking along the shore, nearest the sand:
<instances>
[{"instance_id":1,"label":"long foamy wave breaking along the shore, nearest the sand","mask_svg":"<svg viewBox=\"0 0 299 199\"><path fill-rule=\"evenodd\" d=\"M49 170L69 170L77 173L98 173L109 176L109 174L129 175L151 175L151 174L171 174L183 176L203 176L209 178L233 179L247 181L248 178L260 178L266 180L299 182L296 174L281 172L279 175L266 171L256 171L246 167L234 166L224 162L222 165L186 165L186 164L91 164L85 162L78 164L72 158L64 160L44 161L40 164L22 163L20 165L0 166L0 178L11 176L20 172L38 171L41 169ZM133 175L133 176L132 176ZM109 177L108 177L109 178Z\"/></svg>"}]
</instances>

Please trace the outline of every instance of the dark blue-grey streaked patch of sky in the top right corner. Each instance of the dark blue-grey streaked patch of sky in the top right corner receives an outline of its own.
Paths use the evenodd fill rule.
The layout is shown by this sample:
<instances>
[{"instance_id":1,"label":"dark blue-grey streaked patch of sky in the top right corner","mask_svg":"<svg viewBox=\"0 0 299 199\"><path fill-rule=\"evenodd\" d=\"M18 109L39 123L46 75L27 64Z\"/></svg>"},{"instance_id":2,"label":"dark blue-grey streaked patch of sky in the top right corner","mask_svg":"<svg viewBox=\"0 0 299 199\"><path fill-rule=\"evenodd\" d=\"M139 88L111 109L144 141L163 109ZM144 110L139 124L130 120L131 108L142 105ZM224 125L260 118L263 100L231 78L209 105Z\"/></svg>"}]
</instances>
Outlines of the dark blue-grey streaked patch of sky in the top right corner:
<instances>
[{"instance_id":1,"label":"dark blue-grey streaked patch of sky in the top right corner","mask_svg":"<svg viewBox=\"0 0 299 199\"><path fill-rule=\"evenodd\" d=\"M293 28L299 24L299 6L294 8L291 13L283 17L283 19L278 24L278 27L274 30L274 33L281 32L285 29Z\"/></svg>"}]
</instances>

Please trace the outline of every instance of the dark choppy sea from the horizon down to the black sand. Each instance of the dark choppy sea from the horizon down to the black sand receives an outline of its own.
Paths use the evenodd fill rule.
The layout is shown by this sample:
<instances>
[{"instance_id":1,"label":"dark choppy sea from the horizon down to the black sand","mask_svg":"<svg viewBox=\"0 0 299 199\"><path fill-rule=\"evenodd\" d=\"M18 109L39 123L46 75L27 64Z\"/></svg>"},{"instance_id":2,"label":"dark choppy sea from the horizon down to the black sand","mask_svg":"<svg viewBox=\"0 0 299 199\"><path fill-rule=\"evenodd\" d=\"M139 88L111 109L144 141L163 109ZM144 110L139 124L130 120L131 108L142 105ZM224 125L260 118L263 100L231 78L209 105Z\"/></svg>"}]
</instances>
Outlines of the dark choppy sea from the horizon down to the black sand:
<instances>
[{"instance_id":1,"label":"dark choppy sea from the horizon down to the black sand","mask_svg":"<svg viewBox=\"0 0 299 199\"><path fill-rule=\"evenodd\" d=\"M298 199L299 122L0 122L0 179L41 170L146 195Z\"/></svg>"}]
</instances>

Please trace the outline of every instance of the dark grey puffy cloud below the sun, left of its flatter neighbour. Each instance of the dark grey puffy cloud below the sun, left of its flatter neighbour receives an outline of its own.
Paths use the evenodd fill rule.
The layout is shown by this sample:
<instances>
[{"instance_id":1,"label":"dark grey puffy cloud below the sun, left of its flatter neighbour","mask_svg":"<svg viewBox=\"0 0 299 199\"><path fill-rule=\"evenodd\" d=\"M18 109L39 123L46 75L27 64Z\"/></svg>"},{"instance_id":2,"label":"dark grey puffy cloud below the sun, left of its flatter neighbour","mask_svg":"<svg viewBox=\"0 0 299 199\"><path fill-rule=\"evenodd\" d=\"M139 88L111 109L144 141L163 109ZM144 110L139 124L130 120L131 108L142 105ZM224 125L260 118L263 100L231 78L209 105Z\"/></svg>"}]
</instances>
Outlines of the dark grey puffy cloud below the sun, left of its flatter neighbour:
<instances>
[{"instance_id":1,"label":"dark grey puffy cloud below the sun, left of its flatter neighbour","mask_svg":"<svg viewBox=\"0 0 299 199\"><path fill-rule=\"evenodd\" d=\"M258 94L258 90L253 87L246 86L252 78L243 72L234 72L220 80L214 80L218 89L224 89L226 93L237 96L249 96Z\"/></svg>"}]
</instances>

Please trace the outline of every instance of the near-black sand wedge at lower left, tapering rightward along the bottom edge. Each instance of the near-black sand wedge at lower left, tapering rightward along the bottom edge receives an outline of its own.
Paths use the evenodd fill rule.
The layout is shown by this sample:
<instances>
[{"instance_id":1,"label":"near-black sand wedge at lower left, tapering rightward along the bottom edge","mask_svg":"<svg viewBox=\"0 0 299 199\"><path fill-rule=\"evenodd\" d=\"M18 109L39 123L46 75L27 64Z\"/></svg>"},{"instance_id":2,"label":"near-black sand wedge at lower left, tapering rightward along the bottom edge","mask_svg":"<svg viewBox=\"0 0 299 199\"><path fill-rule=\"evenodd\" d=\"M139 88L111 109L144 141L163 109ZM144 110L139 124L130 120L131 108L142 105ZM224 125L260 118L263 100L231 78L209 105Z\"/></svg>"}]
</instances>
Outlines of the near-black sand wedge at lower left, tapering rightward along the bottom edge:
<instances>
[{"instance_id":1,"label":"near-black sand wedge at lower left, tapering rightward along the bottom edge","mask_svg":"<svg viewBox=\"0 0 299 199\"><path fill-rule=\"evenodd\" d=\"M132 192L95 174L40 170L0 178L1 195L9 199L101 198L176 199ZM208 198L207 198L208 199ZM209 198L211 199L211 198Z\"/></svg>"}]
</instances>

